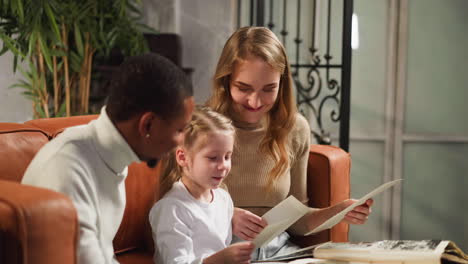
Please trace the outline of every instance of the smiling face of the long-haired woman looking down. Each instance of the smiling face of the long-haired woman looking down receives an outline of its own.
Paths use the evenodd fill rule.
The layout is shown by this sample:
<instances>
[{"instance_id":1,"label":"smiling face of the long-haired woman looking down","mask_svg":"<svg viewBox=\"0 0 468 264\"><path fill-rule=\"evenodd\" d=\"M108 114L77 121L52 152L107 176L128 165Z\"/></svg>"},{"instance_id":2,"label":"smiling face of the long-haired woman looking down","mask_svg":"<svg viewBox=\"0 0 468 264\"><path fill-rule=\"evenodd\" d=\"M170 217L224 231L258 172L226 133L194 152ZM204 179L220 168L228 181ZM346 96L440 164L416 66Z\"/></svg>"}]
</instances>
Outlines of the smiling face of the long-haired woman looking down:
<instances>
[{"instance_id":1,"label":"smiling face of the long-haired woman looking down","mask_svg":"<svg viewBox=\"0 0 468 264\"><path fill-rule=\"evenodd\" d=\"M240 121L258 123L278 97L281 73L261 58L250 56L234 67L230 92L232 109Z\"/></svg>"}]
</instances>

